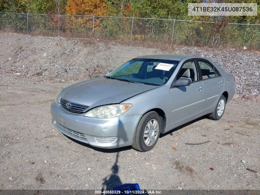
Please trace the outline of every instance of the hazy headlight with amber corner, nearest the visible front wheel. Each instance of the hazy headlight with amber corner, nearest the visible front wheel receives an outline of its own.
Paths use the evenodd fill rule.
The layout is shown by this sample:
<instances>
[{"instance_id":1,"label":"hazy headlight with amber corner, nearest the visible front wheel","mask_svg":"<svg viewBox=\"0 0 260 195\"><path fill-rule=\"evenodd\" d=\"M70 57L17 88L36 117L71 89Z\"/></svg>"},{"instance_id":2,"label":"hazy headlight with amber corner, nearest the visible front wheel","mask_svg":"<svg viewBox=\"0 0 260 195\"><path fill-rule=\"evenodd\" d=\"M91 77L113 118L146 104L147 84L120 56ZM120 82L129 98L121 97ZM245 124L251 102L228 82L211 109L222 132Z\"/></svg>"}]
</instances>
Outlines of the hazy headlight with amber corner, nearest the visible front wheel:
<instances>
[{"instance_id":1,"label":"hazy headlight with amber corner, nearest the visible front wheel","mask_svg":"<svg viewBox=\"0 0 260 195\"><path fill-rule=\"evenodd\" d=\"M114 118L125 113L132 104L112 104L94 108L84 114L84 116L94 118Z\"/></svg>"}]
</instances>

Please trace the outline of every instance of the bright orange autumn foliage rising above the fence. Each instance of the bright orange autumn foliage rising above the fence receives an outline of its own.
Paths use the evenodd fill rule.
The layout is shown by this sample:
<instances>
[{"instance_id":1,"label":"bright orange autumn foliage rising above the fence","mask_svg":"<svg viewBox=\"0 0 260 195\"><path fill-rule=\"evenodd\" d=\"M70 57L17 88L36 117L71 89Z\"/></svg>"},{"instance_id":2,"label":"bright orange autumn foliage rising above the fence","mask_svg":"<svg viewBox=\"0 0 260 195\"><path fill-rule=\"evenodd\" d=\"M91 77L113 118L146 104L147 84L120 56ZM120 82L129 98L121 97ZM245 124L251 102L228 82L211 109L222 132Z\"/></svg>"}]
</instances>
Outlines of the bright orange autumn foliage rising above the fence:
<instances>
[{"instance_id":1,"label":"bright orange autumn foliage rising above the fence","mask_svg":"<svg viewBox=\"0 0 260 195\"><path fill-rule=\"evenodd\" d=\"M68 0L66 11L70 15L78 13L104 15L106 0Z\"/></svg>"}]
</instances>

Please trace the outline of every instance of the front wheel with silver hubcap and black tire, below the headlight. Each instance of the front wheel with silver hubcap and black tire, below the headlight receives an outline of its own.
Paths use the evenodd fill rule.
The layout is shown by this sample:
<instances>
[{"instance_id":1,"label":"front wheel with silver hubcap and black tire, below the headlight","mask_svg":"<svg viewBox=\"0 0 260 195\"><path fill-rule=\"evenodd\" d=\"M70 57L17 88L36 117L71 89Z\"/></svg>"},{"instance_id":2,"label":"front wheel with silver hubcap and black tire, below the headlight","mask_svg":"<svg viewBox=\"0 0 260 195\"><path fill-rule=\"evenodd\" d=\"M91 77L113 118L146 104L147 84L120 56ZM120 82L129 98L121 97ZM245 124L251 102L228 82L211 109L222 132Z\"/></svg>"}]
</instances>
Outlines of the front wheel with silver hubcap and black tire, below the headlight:
<instances>
[{"instance_id":1,"label":"front wheel with silver hubcap and black tire, below the headlight","mask_svg":"<svg viewBox=\"0 0 260 195\"><path fill-rule=\"evenodd\" d=\"M159 139L160 132L161 120L158 113L154 111L146 113L137 125L132 147L140 152L153 149Z\"/></svg>"}]
</instances>

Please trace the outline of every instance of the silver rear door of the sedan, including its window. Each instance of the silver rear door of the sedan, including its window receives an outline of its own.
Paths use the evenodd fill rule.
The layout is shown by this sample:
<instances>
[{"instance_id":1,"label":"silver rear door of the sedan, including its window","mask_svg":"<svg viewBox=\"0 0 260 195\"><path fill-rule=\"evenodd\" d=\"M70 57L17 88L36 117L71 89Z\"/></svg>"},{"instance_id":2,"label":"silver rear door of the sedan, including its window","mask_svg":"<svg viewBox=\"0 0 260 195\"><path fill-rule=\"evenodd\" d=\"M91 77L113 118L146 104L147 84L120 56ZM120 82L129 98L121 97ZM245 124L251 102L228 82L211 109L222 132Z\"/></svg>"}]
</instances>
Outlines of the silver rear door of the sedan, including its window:
<instances>
[{"instance_id":1,"label":"silver rear door of the sedan, including its window","mask_svg":"<svg viewBox=\"0 0 260 195\"><path fill-rule=\"evenodd\" d=\"M207 112L210 111L218 101L218 98L222 93L225 80L209 61L205 59L197 59L197 63L200 69L200 77L204 88L202 111Z\"/></svg>"}]
</instances>

